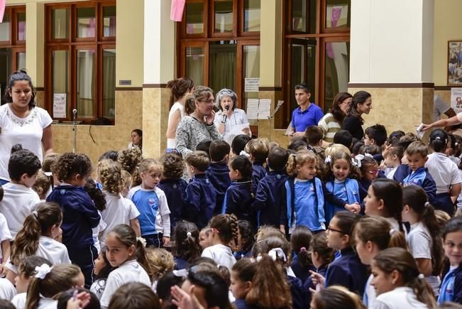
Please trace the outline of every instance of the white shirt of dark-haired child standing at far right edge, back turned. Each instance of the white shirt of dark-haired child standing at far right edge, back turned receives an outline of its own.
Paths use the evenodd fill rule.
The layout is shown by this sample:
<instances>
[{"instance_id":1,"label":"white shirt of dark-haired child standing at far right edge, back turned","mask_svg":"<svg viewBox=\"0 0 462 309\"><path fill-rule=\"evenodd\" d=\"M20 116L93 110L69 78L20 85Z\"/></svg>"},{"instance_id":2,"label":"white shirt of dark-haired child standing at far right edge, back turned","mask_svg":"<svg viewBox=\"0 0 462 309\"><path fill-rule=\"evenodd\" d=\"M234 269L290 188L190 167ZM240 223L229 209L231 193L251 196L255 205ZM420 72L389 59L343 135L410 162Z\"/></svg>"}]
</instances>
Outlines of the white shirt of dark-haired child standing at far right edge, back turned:
<instances>
[{"instance_id":1,"label":"white shirt of dark-haired child standing at far right edge, back turned","mask_svg":"<svg viewBox=\"0 0 462 309\"><path fill-rule=\"evenodd\" d=\"M453 163L444 153L431 153L425 167L435 180L436 194L449 193L449 187L462 183L456 163Z\"/></svg>"}]
</instances>

